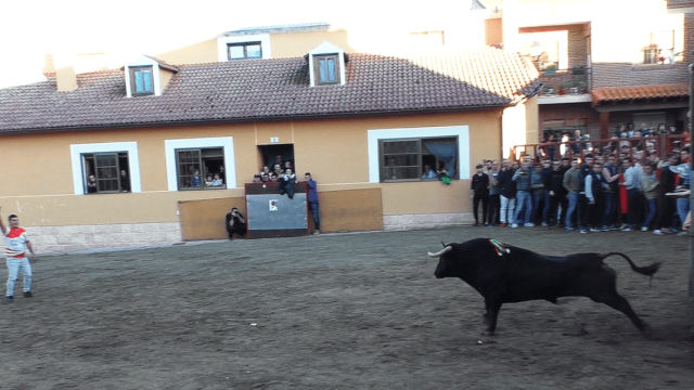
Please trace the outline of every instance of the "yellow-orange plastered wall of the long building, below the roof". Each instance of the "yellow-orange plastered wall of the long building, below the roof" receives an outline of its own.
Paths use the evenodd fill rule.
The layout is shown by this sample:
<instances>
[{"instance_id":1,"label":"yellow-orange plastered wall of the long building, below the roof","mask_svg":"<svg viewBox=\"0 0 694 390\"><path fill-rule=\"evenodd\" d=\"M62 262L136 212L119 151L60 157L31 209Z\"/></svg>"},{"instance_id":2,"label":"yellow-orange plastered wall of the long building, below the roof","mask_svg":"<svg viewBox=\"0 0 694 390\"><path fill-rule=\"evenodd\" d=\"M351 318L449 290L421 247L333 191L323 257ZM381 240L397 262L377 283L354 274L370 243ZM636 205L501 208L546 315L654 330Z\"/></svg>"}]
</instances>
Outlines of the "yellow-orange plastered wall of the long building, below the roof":
<instances>
[{"instance_id":1,"label":"yellow-orange plastered wall of the long building, below the roof","mask_svg":"<svg viewBox=\"0 0 694 390\"><path fill-rule=\"evenodd\" d=\"M311 171L319 192L381 188L384 214L466 212L466 178L451 185L370 183L368 130L468 126L467 164L474 167L500 157L500 109L486 109L3 135L0 155L21 168L3 169L0 206L3 216L18 213L27 226L176 222L179 202L244 196L243 183L261 168L258 145L279 136L293 142L299 177ZM168 191L165 141L217 136L233 136L239 187ZM142 193L75 195L70 145L107 142L138 143Z\"/></svg>"}]
</instances>

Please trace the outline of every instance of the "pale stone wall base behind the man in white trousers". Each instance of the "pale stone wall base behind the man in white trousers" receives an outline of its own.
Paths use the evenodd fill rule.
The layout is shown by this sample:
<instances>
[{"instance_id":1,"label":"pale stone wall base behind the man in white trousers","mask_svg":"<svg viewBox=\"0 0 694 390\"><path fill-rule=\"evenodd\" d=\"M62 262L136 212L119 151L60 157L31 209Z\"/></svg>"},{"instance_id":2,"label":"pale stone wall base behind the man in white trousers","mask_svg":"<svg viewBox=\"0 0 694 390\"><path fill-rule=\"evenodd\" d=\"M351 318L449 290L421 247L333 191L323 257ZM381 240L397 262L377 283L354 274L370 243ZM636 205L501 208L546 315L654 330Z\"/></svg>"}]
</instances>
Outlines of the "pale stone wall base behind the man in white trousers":
<instances>
[{"instance_id":1,"label":"pale stone wall base behind the man in white trousers","mask_svg":"<svg viewBox=\"0 0 694 390\"><path fill-rule=\"evenodd\" d=\"M106 248L137 248L181 242L178 222L25 227L37 255ZM0 243L4 255L4 240Z\"/></svg>"}]
</instances>

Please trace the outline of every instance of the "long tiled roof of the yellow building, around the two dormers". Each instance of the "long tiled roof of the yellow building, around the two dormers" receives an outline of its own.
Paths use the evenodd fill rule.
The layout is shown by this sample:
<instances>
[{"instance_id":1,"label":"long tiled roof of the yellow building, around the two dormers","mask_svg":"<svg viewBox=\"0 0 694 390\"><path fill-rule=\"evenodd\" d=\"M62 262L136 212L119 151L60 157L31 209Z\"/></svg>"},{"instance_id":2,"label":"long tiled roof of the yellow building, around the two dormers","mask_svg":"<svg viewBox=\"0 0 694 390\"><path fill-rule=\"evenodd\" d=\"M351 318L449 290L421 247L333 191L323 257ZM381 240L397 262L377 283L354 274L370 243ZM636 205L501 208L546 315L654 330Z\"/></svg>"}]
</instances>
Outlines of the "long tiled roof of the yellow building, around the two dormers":
<instances>
[{"instance_id":1,"label":"long tiled roof of the yellow building, around the two dormers","mask_svg":"<svg viewBox=\"0 0 694 390\"><path fill-rule=\"evenodd\" d=\"M177 65L160 96L126 96L123 70L0 90L0 133L147 123L506 106L536 93L517 54L487 48L411 57L350 54L346 84L309 87L304 57Z\"/></svg>"}]
</instances>

